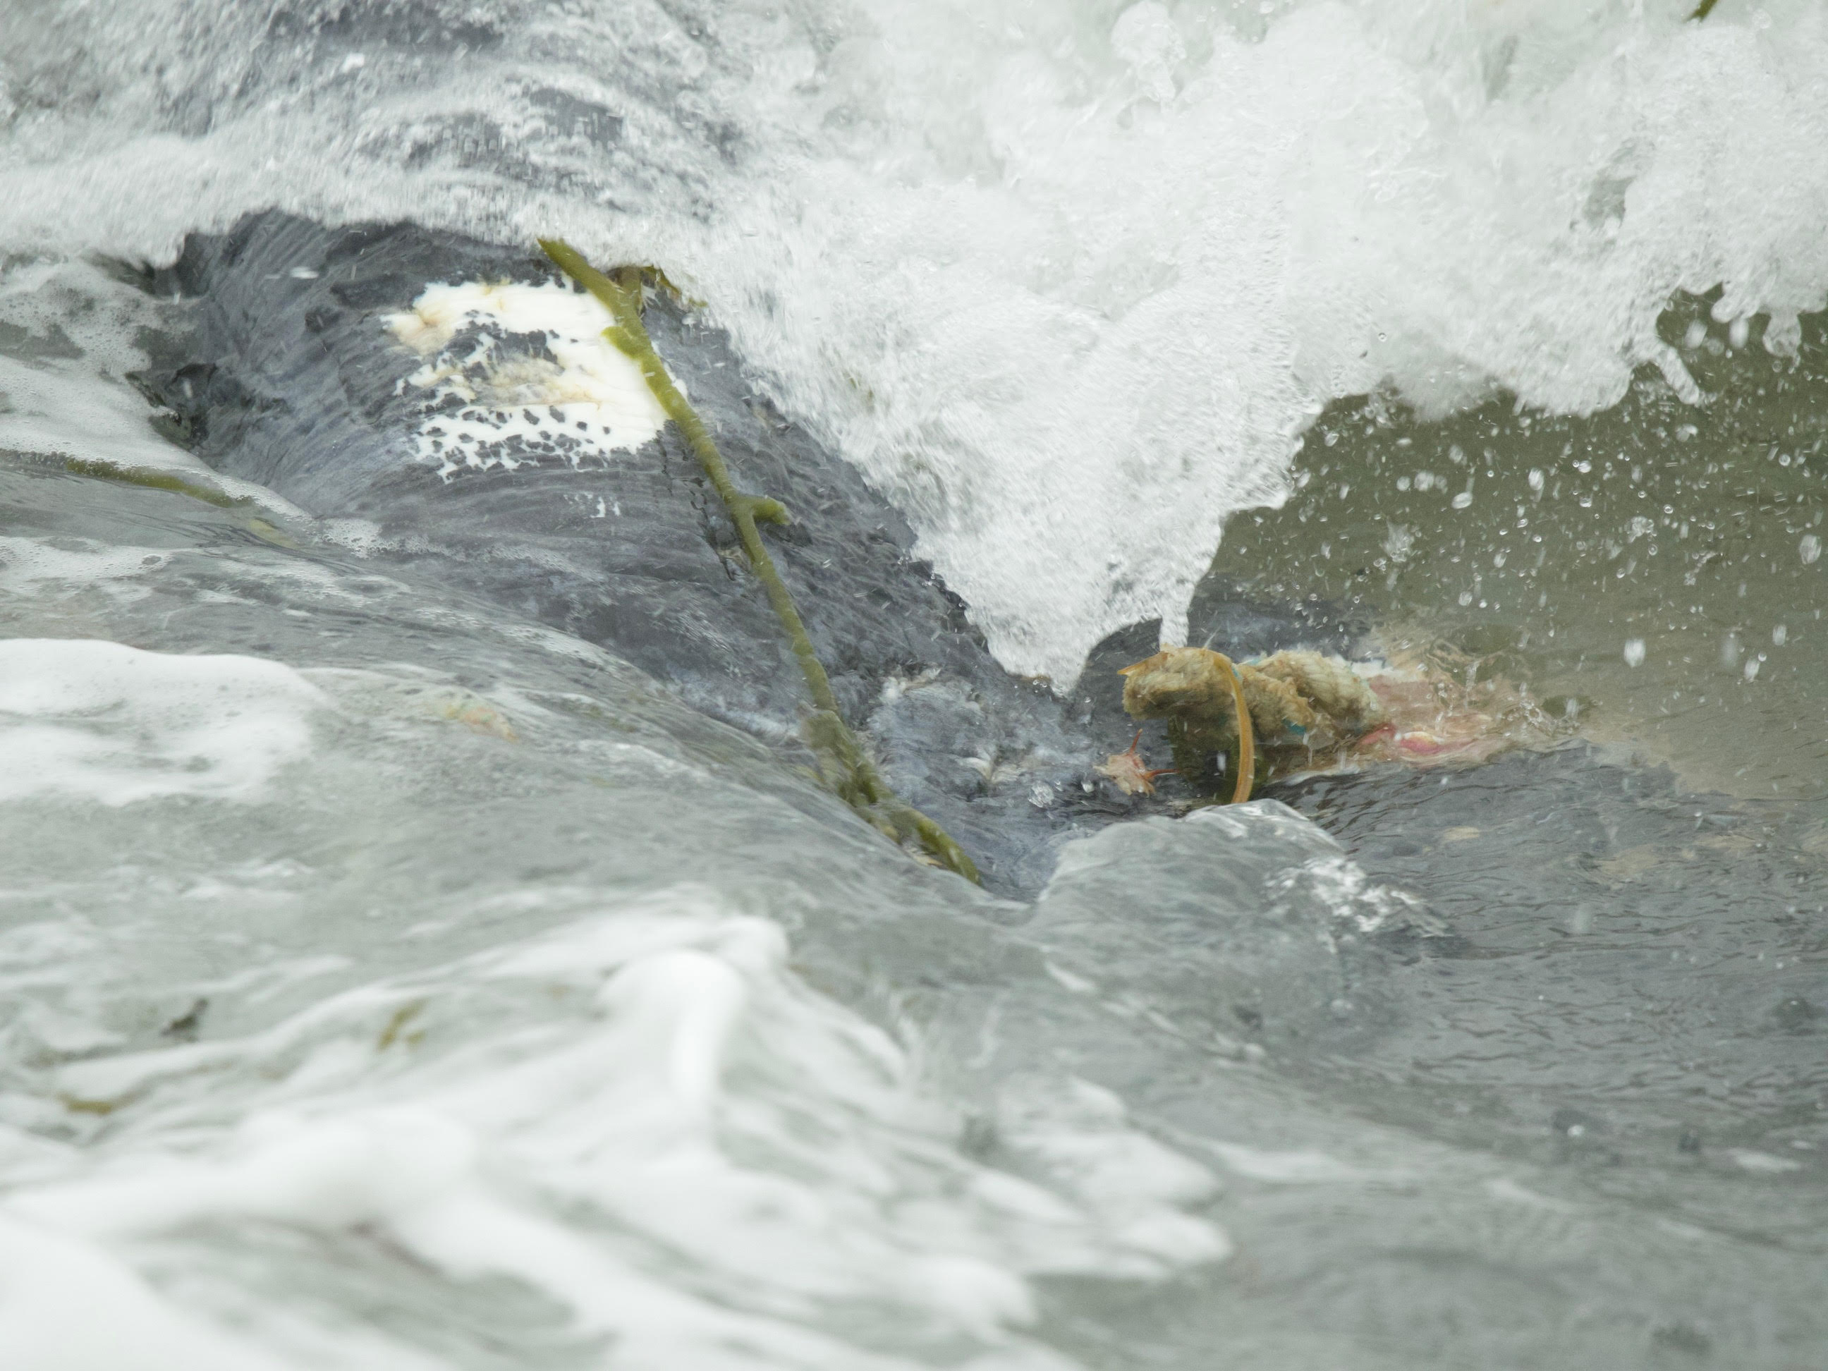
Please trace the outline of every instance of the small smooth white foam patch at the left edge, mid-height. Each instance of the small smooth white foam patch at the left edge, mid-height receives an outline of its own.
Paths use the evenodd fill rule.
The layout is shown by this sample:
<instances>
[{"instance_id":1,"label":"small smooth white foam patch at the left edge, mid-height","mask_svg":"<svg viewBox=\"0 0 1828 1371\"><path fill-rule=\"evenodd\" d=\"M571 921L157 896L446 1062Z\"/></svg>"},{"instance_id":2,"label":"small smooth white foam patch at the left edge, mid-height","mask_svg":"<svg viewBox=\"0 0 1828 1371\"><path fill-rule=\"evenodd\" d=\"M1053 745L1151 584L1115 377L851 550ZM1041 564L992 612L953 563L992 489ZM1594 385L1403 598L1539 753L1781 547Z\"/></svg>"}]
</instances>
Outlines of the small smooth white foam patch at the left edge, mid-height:
<instances>
[{"instance_id":1,"label":"small smooth white foam patch at the left edge, mid-height","mask_svg":"<svg viewBox=\"0 0 1828 1371\"><path fill-rule=\"evenodd\" d=\"M0 801L258 799L327 698L252 656L91 638L0 640Z\"/></svg>"}]
</instances>

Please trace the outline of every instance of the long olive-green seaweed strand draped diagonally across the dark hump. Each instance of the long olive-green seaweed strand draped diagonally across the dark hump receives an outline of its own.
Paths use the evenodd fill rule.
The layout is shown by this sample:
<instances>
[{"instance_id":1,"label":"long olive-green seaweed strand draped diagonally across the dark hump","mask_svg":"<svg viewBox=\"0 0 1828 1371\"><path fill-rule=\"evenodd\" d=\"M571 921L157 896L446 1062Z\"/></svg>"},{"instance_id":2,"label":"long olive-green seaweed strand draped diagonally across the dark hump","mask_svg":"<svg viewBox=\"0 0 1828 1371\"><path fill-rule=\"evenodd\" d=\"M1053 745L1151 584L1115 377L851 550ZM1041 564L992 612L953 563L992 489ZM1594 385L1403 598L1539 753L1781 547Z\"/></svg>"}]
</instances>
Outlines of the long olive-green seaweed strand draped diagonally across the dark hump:
<instances>
[{"instance_id":1,"label":"long olive-green seaweed strand draped diagonally across the dark hump","mask_svg":"<svg viewBox=\"0 0 1828 1371\"><path fill-rule=\"evenodd\" d=\"M673 384L673 377L667 375L665 364L660 360L653 340L647 336L647 329L642 325L642 269L618 267L614 272L603 274L585 261L583 254L561 239L541 238L539 247L552 258L559 271L594 294L609 311L614 324L603 329L603 336L642 369L647 388L660 400L660 408L667 411L667 419L678 424L691 444L693 455L698 459L698 466L704 468L711 484L717 486L724 508L729 510L729 517L737 525L737 536L742 539L742 550L749 558L749 569L760 578L762 589L768 592L768 603L773 607L775 618L781 620L781 627L793 647L801 675L806 676L806 689L813 704L813 713L806 718L804 728L806 742L819 757L819 771L824 784L896 843L914 839L941 866L958 872L967 881L976 881L978 868L965 856L965 850L940 824L912 804L903 802L888 788L888 782L876 770L876 762L870 760L857 735L850 731L850 726L839 715L837 696L832 695L832 678L824 675L824 664L819 662L819 654L813 651L812 638L806 634L806 623L801 620L799 609L793 605L793 596L788 592L786 581L781 579L781 572L775 570L775 559L768 556L768 547L762 543L762 534L757 528L757 521L788 523L786 506L766 495L746 495L729 479L724 453L717 450L709 430L698 419L698 411L686 402L678 386Z\"/></svg>"}]
</instances>

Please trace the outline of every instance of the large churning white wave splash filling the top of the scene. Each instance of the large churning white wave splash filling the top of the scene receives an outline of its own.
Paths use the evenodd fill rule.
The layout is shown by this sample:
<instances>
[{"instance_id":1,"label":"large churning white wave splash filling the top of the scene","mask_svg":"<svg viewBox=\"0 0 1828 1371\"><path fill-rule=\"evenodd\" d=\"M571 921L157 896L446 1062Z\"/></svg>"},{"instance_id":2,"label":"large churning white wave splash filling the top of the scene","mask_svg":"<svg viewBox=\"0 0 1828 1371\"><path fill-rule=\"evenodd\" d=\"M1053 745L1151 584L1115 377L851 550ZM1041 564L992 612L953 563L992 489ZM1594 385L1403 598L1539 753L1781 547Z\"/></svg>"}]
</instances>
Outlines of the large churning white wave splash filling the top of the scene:
<instances>
[{"instance_id":1,"label":"large churning white wave splash filling the top of the scene","mask_svg":"<svg viewBox=\"0 0 1828 1371\"><path fill-rule=\"evenodd\" d=\"M1066 680L1119 623L1179 634L1329 397L1578 411L1642 364L1693 397L1676 289L1793 342L1828 287L1823 11L1689 9L484 4L461 58L260 5L60 13L15 40L0 241L168 254L283 205L658 261L1004 662Z\"/></svg>"}]
</instances>

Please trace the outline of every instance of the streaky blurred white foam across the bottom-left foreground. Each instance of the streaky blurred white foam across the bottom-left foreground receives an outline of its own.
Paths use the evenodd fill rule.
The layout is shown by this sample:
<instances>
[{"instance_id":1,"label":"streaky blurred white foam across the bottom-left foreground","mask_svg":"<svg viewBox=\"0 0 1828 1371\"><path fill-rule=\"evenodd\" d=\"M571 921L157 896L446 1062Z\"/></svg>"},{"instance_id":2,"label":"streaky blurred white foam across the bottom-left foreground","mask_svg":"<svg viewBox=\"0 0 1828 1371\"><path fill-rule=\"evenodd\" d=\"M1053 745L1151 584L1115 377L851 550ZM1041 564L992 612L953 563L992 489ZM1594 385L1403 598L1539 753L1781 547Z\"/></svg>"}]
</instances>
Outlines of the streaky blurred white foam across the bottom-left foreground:
<instances>
[{"instance_id":1,"label":"streaky blurred white foam across the bottom-left foreground","mask_svg":"<svg viewBox=\"0 0 1828 1371\"><path fill-rule=\"evenodd\" d=\"M786 958L775 923L678 887L247 1038L57 1068L60 1097L128 1104L112 1142L0 1150L0 1353L49 1345L80 1280L88 1322L148 1347L135 1366L294 1364L236 1364L232 1298L159 1296L139 1274L199 1225L380 1239L450 1280L539 1291L574 1336L612 1338L605 1366L731 1371L888 1371L927 1366L925 1345L980 1371L1064 1371L1022 1334L1031 1276L1161 1278L1225 1256L1185 1212L1212 1175L1117 1097L1013 1082L998 1133L1022 1174L983 1166L903 1047ZM239 1122L210 1122L212 1091ZM691 1280L667 1280L680 1259ZM856 1311L877 1345L852 1340ZM356 1334L375 1331L316 1329L344 1349ZM108 1336L49 1366L106 1366Z\"/></svg>"}]
</instances>

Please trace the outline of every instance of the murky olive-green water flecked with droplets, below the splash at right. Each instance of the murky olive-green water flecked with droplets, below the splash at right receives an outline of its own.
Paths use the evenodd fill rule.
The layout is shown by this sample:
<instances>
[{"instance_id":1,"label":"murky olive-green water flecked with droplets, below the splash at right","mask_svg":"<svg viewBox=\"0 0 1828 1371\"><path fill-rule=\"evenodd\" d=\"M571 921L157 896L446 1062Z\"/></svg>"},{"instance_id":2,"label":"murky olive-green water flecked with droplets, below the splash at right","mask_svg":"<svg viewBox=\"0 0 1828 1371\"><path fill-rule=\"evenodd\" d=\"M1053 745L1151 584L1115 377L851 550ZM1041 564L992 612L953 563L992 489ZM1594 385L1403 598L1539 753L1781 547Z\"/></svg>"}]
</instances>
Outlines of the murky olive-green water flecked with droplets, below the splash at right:
<instances>
[{"instance_id":1,"label":"murky olive-green water flecked with droplets, below the splash at right","mask_svg":"<svg viewBox=\"0 0 1828 1371\"><path fill-rule=\"evenodd\" d=\"M1828 792L1828 327L1793 356L1706 300L1662 333L1707 399L1645 369L1590 417L1499 395L1428 420L1334 404L1296 494L1239 515L1214 570L1353 600L1397 651L1526 684L1578 731L1755 797Z\"/></svg>"}]
</instances>

